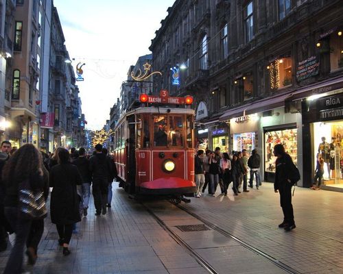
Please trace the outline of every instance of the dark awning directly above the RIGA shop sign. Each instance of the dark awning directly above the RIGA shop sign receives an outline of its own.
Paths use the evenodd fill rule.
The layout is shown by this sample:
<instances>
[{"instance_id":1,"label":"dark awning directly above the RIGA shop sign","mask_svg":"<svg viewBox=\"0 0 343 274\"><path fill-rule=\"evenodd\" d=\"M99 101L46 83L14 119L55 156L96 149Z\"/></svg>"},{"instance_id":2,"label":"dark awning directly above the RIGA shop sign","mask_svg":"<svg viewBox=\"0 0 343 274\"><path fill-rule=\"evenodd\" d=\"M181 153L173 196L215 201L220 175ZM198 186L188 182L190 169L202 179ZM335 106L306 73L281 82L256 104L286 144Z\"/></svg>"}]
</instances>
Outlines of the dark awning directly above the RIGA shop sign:
<instances>
[{"instance_id":1,"label":"dark awning directly above the RIGA shop sign","mask_svg":"<svg viewBox=\"0 0 343 274\"><path fill-rule=\"evenodd\" d=\"M339 90L343 88L343 77L336 77L328 81L319 82L313 85L305 86L293 92L292 101L307 98L311 95L319 95L333 90Z\"/></svg>"}]
</instances>

